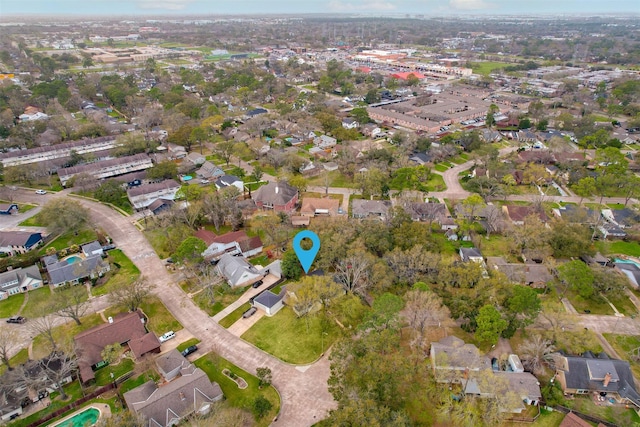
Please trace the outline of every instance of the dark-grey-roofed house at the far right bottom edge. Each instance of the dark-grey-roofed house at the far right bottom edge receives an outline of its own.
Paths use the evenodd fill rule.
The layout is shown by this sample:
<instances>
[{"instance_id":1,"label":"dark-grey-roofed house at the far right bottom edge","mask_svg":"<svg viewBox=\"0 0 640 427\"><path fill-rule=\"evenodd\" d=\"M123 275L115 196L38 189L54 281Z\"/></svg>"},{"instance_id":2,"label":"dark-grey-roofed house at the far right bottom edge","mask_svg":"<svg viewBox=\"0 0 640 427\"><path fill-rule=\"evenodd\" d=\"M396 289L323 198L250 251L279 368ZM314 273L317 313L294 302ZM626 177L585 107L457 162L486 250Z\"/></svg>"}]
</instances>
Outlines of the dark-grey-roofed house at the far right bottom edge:
<instances>
[{"instance_id":1,"label":"dark-grey-roofed house at the far right bottom edge","mask_svg":"<svg viewBox=\"0 0 640 427\"><path fill-rule=\"evenodd\" d=\"M640 409L640 394L625 360L610 359L605 353L598 357L591 353L560 356L556 360L555 378L565 394L606 393L607 398Z\"/></svg>"}]
</instances>

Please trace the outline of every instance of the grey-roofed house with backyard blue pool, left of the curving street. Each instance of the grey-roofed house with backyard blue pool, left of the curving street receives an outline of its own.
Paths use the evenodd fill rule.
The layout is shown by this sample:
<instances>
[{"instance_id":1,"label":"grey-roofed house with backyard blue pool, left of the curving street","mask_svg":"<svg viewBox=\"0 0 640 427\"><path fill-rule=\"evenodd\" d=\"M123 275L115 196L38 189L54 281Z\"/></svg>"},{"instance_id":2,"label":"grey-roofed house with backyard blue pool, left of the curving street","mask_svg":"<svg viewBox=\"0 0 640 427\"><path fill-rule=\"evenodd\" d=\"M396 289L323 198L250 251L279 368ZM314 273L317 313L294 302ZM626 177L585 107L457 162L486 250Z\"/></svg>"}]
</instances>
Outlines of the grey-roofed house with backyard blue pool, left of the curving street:
<instances>
[{"instance_id":1,"label":"grey-roofed house with backyard blue pool, left of the curving street","mask_svg":"<svg viewBox=\"0 0 640 427\"><path fill-rule=\"evenodd\" d=\"M48 255L42 262L49 275L49 285L57 288L65 284L77 284L81 280L102 277L111 266L101 255L75 254L62 260L57 255Z\"/></svg>"}]
</instances>

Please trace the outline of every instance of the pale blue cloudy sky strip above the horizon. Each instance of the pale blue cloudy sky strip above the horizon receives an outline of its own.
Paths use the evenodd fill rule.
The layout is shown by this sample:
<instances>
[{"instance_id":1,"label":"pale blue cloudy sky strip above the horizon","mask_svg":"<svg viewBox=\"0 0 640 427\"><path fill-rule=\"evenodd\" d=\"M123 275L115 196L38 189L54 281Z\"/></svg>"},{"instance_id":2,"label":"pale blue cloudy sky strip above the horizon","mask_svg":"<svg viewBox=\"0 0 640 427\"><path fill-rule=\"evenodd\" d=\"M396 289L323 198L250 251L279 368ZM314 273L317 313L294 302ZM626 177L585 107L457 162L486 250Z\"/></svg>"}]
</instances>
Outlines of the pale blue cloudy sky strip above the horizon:
<instances>
[{"instance_id":1,"label":"pale blue cloudy sky strip above the horizon","mask_svg":"<svg viewBox=\"0 0 640 427\"><path fill-rule=\"evenodd\" d=\"M639 0L0 0L7 15L640 14Z\"/></svg>"}]
</instances>

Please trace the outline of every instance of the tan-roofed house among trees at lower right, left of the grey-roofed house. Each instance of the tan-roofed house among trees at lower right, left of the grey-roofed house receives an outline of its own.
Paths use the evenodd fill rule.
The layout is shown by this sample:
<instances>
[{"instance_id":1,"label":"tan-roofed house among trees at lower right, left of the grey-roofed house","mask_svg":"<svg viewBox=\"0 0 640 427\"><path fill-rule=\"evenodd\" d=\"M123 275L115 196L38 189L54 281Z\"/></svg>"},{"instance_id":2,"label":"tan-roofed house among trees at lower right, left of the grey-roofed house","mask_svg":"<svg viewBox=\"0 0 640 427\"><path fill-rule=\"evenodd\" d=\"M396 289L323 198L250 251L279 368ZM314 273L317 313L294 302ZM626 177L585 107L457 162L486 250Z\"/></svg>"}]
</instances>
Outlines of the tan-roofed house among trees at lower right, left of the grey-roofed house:
<instances>
[{"instance_id":1,"label":"tan-roofed house among trees at lower right, left of the grey-roofed house","mask_svg":"<svg viewBox=\"0 0 640 427\"><path fill-rule=\"evenodd\" d=\"M437 382L460 383L465 373L491 369L491 361L478 347L453 335L432 342L430 357Z\"/></svg>"}]
</instances>

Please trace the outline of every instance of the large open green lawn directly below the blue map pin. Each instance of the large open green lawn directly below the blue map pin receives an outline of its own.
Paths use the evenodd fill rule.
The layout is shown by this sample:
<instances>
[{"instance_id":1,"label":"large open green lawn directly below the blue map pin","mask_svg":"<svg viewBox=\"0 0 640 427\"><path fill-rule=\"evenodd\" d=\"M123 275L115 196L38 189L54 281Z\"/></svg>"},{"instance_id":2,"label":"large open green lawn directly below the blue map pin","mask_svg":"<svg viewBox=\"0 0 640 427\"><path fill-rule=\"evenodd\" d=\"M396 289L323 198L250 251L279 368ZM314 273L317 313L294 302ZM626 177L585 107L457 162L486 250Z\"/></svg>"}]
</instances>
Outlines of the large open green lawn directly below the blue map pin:
<instances>
[{"instance_id":1,"label":"large open green lawn directly below the blue map pin","mask_svg":"<svg viewBox=\"0 0 640 427\"><path fill-rule=\"evenodd\" d=\"M333 322L326 326L327 335L323 336L320 316L298 319L293 310L285 306L275 316L258 320L242 338L287 363L305 364L320 357L338 338L338 326Z\"/></svg>"}]
</instances>

